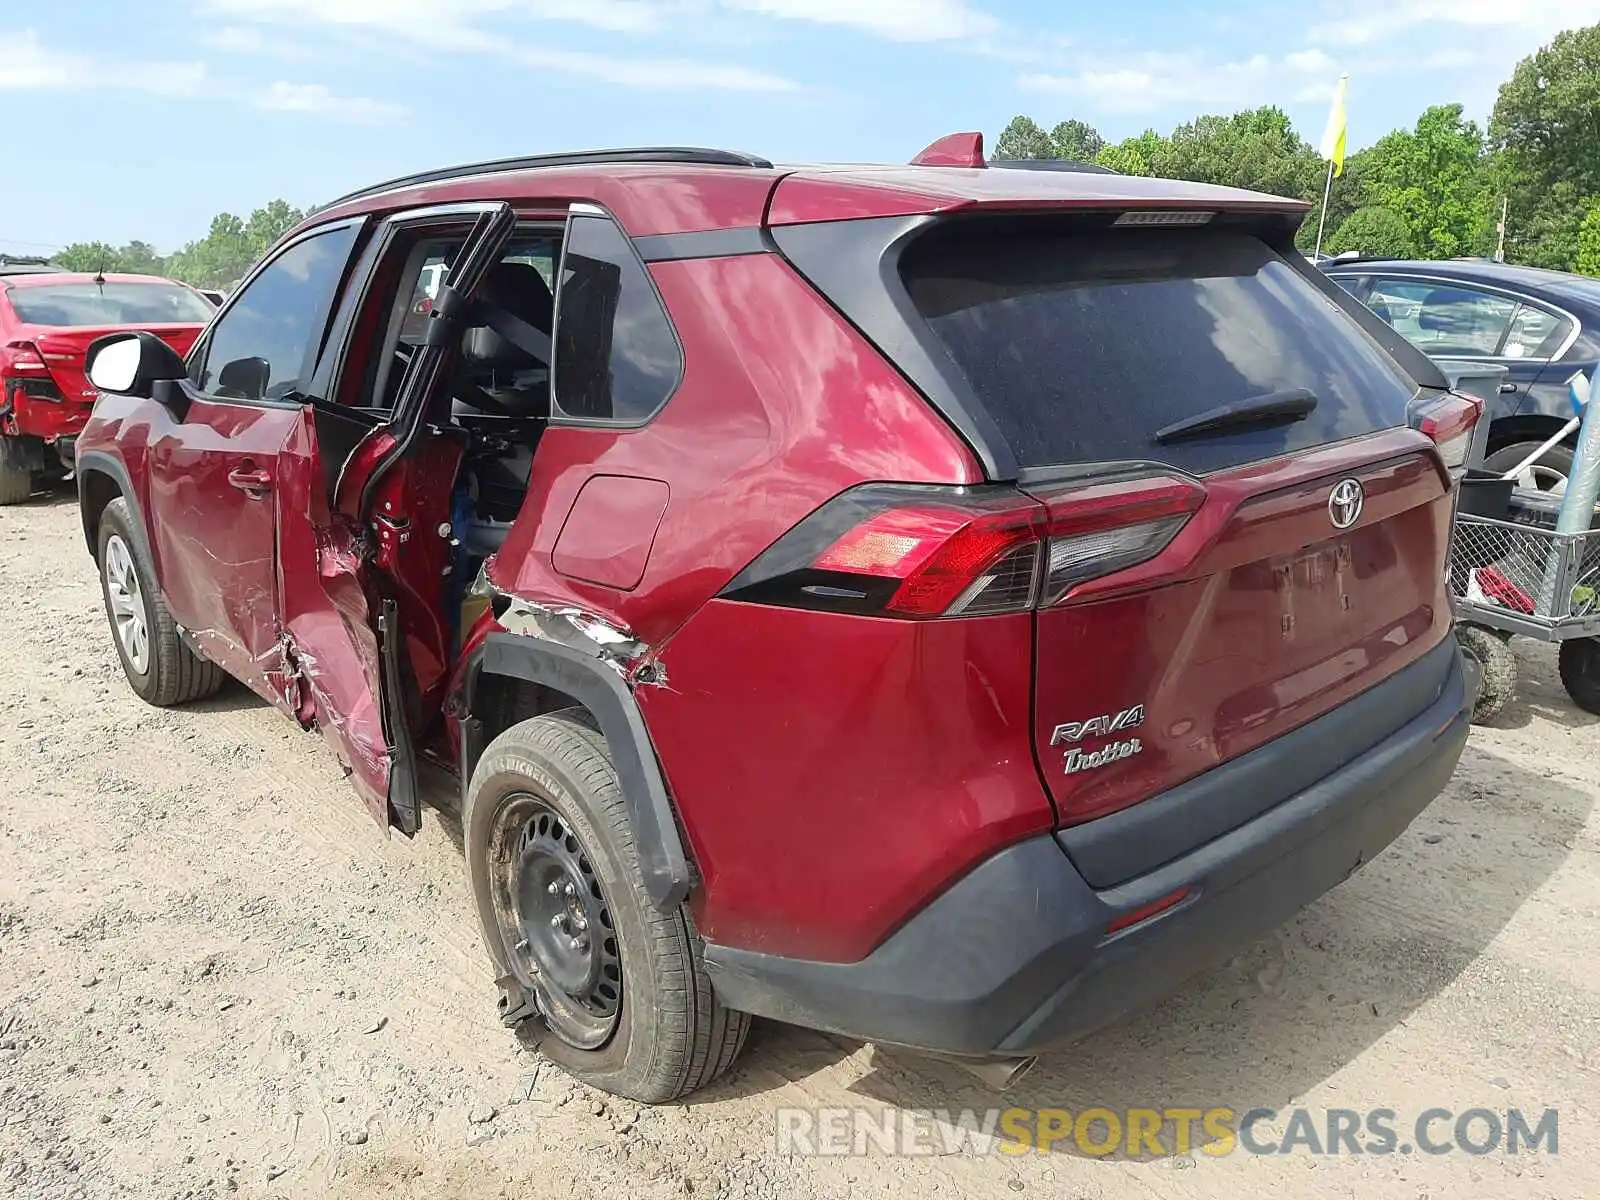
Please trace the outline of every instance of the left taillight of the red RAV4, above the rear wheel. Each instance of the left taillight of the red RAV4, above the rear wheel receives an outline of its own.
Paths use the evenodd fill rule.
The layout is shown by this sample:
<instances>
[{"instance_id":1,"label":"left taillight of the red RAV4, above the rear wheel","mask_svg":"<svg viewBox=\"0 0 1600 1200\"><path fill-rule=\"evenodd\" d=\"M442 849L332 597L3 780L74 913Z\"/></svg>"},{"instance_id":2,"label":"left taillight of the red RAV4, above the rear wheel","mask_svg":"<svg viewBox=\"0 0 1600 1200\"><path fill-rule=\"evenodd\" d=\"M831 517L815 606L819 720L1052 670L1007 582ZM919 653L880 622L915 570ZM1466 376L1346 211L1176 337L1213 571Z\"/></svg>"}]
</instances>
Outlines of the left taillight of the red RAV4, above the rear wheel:
<instances>
[{"instance_id":1,"label":"left taillight of the red RAV4, above the rear wheel","mask_svg":"<svg viewBox=\"0 0 1600 1200\"><path fill-rule=\"evenodd\" d=\"M1155 557L1203 499L1168 475L1037 496L874 483L806 517L723 595L912 619L1018 613Z\"/></svg>"}]
</instances>

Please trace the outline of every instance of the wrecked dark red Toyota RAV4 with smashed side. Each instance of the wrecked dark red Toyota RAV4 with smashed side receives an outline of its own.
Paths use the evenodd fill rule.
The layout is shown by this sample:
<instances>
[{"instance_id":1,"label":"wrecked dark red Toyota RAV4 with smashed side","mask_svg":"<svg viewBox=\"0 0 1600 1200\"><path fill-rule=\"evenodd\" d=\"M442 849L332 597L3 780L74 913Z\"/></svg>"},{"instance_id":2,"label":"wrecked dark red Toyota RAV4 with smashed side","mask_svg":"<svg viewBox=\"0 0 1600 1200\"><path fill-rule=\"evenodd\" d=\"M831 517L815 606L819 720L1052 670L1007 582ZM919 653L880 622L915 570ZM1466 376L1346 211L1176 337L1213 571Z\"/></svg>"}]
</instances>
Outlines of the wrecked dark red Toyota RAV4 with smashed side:
<instances>
[{"instance_id":1,"label":"wrecked dark red Toyota RAV4 with smashed side","mask_svg":"<svg viewBox=\"0 0 1600 1200\"><path fill-rule=\"evenodd\" d=\"M482 163L107 338L83 530L379 821L459 771L507 1024L614 1093L749 1014L1021 1062L1378 854L1467 736L1475 400L1304 205L714 150ZM442 278L435 278L442 275Z\"/></svg>"}]
</instances>

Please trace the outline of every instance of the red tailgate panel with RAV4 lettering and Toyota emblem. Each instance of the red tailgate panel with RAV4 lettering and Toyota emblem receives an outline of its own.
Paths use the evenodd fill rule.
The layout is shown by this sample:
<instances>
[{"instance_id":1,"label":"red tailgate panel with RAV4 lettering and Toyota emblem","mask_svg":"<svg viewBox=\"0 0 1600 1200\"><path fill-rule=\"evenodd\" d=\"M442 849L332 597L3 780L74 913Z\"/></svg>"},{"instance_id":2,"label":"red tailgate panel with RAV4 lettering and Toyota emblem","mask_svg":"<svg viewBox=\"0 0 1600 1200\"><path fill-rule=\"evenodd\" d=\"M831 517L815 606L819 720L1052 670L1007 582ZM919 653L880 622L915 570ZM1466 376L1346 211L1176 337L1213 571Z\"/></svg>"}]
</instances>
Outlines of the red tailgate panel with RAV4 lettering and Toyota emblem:
<instances>
[{"instance_id":1,"label":"red tailgate panel with RAV4 lettering and Toyota emblem","mask_svg":"<svg viewBox=\"0 0 1600 1200\"><path fill-rule=\"evenodd\" d=\"M1328 494L1342 478L1363 485L1366 504L1339 533ZM1035 744L1062 824L1248 754L1450 634L1451 502L1429 454L1246 494L1226 514L1208 509L1230 502L1227 482L1210 483L1162 555L1192 555L1176 581L1038 614ZM1258 811L1278 798L1262 792Z\"/></svg>"}]
</instances>

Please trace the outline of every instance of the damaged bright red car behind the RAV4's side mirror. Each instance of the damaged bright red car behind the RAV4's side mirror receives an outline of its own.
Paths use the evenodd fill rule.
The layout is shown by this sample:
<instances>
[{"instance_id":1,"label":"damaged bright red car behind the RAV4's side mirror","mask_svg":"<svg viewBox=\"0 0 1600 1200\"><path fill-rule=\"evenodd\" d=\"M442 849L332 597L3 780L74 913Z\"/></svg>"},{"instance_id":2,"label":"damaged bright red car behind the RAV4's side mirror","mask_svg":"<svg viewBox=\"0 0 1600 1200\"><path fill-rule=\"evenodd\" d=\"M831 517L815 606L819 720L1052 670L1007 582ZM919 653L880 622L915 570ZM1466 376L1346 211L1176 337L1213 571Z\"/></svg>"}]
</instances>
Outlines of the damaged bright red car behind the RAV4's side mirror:
<instances>
[{"instance_id":1,"label":"damaged bright red car behind the RAV4's side mirror","mask_svg":"<svg viewBox=\"0 0 1600 1200\"><path fill-rule=\"evenodd\" d=\"M154 275L80 275L0 266L0 504L72 469L94 389L83 352L96 338L149 330L187 354L214 309L194 288Z\"/></svg>"}]
</instances>

